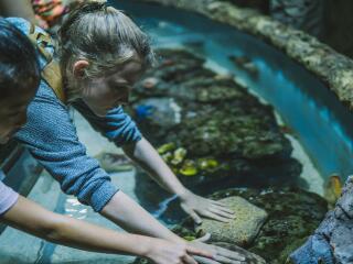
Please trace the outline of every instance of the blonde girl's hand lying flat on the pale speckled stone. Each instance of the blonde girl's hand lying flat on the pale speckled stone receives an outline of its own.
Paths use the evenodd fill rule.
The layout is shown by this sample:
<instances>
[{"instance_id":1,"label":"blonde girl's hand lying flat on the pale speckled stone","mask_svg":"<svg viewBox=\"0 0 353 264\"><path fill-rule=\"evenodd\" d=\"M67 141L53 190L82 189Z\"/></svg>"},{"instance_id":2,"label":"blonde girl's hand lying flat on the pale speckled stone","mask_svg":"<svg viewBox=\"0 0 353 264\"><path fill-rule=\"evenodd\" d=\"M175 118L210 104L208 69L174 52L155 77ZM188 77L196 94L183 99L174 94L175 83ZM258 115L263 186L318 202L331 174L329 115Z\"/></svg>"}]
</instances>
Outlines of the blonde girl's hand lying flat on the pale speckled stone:
<instances>
[{"instance_id":1,"label":"blonde girl's hand lying flat on the pale speckled stone","mask_svg":"<svg viewBox=\"0 0 353 264\"><path fill-rule=\"evenodd\" d=\"M192 217L197 223L202 223L201 217L206 217L221 222L229 222L235 218L234 211L228 209L226 205L196 196L191 191L185 191L184 195L179 196L181 208Z\"/></svg>"}]
</instances>

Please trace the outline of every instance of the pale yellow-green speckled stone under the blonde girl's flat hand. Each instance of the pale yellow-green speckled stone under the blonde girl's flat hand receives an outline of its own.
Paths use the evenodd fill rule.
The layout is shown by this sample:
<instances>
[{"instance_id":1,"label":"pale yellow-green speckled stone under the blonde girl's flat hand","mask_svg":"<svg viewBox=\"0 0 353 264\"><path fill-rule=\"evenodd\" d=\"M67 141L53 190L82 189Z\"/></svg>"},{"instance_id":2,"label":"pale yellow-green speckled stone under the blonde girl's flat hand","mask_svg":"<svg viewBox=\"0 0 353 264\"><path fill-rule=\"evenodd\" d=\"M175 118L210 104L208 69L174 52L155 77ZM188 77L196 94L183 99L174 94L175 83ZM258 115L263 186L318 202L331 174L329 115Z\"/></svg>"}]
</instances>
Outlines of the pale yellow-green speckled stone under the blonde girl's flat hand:
<instances>
[{"instance_id":1,"label":"pale yellow-green speckled stone under the blonde girl's flat hand","mask_svg":"<svg viewBox=\"0 0 353 264\"><path fill-rule=\"evenodd\" d=\"M210 233L213 242L226 242L240 246L250 244L263 227L267 212L242 197L229 197L221 201L236 212L236 219L229 223L204 219L196 228L196 232Z\"/></svg>"}]
</instances>

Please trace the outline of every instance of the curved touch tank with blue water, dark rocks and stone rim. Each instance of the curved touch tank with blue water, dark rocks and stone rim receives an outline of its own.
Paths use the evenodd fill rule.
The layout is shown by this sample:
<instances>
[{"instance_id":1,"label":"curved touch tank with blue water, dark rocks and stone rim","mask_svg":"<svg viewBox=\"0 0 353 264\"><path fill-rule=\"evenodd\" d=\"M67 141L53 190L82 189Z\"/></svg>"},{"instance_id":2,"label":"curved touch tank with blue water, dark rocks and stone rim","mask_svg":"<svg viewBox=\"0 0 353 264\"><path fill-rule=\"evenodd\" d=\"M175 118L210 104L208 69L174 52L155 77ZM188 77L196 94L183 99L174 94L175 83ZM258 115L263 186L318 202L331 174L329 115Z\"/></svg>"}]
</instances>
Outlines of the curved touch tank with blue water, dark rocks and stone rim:
<instances>
[{"instance_id":1,"label":"curved touch tank with blue water, dark rocks and stone rim","mask_svg":"<svg viewBox=\"0 0 353 264\"><path fill-rule=\"evenodd\" d=\"M352 112L340 72L340 65L352 63L255 11L232 13L227 3L200 2L116 4L151 35L158 61L135 87L129 110L186 186L215 199L245 198L267 217L236 210L242 212L231 229L212 221L195 229L182 220L174 197L142 172L136 194L185 239L211 232L213 243L286 263L319 227L328 202L334 206L340 182L352 172ZM270 30L282 30L276 34L287 42ZM323 55L331 61L315 64ZM333 62L339 66L329 68ZM329 69L333 73L324 78ZM258 226L242 233L249 221ZM263 263L252 253L249 263ZM291 261L315 263L307 253Z\"/></svg>"}]
</instances>

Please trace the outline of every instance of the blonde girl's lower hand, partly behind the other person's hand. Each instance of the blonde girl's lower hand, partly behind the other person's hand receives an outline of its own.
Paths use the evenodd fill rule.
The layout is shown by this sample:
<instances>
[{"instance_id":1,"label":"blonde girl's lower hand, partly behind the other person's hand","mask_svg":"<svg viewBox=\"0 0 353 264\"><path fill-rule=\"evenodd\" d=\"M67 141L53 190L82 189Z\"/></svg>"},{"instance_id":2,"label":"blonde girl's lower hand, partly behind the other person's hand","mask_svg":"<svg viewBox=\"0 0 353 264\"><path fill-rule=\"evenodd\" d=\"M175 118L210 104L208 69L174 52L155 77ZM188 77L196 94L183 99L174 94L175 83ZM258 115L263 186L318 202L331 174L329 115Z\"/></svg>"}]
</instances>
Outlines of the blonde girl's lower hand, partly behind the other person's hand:
<instances>
[{"instance_id":1,"label":"blonde girl's lower hand, partly behind the other person's hand","mask_svg":"<svg viewBox=\"0 0 353 264\"><path fill-rule=\"evenodd\" d=\"M205 244L201 242L201 240L194 240L189 243L196 249L207 251L212 254L212 260L204 256L193 256L200 264L246 264L246 257L238 252Z\"/></svg>"}]
</instances>

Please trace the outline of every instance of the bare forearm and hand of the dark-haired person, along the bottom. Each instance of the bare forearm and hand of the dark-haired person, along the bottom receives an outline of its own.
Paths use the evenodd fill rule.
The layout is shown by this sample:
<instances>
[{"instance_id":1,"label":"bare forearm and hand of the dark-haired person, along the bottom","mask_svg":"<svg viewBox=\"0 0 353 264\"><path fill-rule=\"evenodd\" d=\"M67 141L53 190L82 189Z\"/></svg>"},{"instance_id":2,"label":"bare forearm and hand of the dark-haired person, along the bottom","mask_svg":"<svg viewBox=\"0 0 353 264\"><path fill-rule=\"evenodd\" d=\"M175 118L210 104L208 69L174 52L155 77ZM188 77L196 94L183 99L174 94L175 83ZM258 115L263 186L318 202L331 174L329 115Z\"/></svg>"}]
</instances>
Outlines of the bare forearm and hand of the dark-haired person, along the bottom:
<instances>
[{"instance_id":1,"label":"bare forearm and hand of the dark-haired person, along the bottom","mask_svg":"<svg viewBox=\"0 0 353 264\"><path fill-rule=\"evenodd\" d=\"M21 196L0 220L47 241L86 251L138 255L163 264L175 261L196 263L188 255L189 253L210 257L210 253L195 250L185 242L172 243L142 235L118 233L47 211Z\"/></svg>"}]
</instances>

